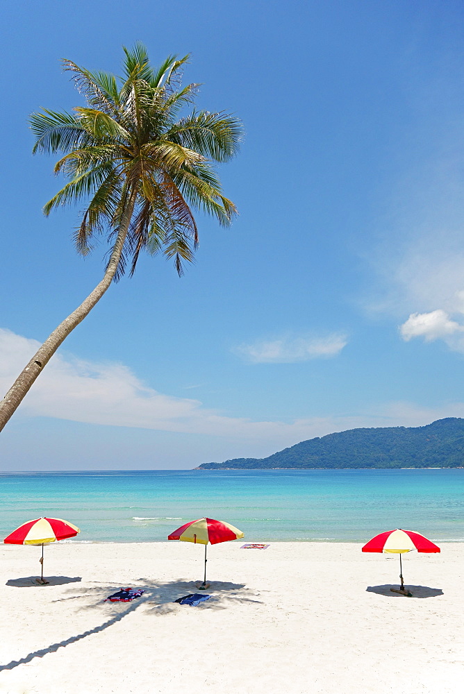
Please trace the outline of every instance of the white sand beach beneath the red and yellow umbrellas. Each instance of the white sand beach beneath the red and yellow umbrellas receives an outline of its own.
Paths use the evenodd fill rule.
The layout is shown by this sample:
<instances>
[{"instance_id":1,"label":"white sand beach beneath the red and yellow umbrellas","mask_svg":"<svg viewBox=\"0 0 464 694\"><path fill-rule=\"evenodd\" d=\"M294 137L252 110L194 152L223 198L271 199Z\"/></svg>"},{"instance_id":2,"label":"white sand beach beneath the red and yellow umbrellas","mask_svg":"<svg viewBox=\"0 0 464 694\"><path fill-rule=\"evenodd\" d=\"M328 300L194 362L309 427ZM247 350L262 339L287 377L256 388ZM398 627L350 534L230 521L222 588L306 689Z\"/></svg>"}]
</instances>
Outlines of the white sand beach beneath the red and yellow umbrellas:
<instances>
[{"instance_id":1,"label":"white sand beach beneath the red and yellow umbrellas","mask_svg":"<svg viewBox=\"0 0 464 694\"><path fill-rule=\"evenodd\" d=\"M464 677L464 545L404 558L361 544L208 547L56 543L0 549L3 694L456 694ZM145 590L129 603L115 589ZM371 586L372 590L367 590ZM377 587L376 587L377 586ZM379 587L383 586L383 587ZM413 586L422 586L414 588Z\"/></svg>"}]
</instances>

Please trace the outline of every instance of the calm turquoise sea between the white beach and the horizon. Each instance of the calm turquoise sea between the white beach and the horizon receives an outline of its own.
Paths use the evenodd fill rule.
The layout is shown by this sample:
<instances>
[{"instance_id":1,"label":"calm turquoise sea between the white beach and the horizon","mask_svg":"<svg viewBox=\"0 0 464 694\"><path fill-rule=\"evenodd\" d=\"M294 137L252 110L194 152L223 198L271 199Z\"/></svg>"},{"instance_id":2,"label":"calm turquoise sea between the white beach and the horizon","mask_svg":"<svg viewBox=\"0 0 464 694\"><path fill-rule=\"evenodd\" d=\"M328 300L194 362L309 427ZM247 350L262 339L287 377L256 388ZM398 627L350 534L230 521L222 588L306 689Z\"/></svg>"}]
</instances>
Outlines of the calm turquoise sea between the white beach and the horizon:
<instances>
[{"instance_id":1,"label":"calm turquoise sea between the white beach and the horizon","mask_svg":"<svg viewBox=\"0 0 464 694\"><path fill-rule=\"evenodd\" d=\"M0 474L0 502L0 538L51 516L79 541L160 541L209 516L249 541L363 542L394 527L464 541L464 470Z\"/></svg>"}]
</instances>

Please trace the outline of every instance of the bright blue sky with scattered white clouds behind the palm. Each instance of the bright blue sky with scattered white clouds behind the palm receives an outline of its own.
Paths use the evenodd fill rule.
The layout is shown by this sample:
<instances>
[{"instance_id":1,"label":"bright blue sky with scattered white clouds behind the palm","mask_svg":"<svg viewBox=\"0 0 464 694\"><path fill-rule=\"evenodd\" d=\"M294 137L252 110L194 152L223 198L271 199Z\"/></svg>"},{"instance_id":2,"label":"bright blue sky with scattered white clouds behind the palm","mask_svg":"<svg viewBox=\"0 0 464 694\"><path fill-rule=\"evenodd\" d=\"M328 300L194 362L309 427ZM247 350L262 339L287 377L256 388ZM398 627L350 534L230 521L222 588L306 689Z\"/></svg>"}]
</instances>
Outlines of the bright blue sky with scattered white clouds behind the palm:
<instances>
[{"instance_id":1,"label":"bright blue sky with scattered white clouds behind the palm","mask_svg":"<svg viewBox=\"0 0 464 694\"><path fill-rule=\"evenodd\" d=\"M97 284L106 245L43 217L27 118L82 103L60 58L191 53L245 124L240 217L199 216L179 279L144 257L0 434L0 469L191 468L357 426L464 416L462 3L21 1L3 6L0 386ZM23 363L24 362L24 363ZM2 393L3 394L3 393Z\"/></svg>"}]
</instances>

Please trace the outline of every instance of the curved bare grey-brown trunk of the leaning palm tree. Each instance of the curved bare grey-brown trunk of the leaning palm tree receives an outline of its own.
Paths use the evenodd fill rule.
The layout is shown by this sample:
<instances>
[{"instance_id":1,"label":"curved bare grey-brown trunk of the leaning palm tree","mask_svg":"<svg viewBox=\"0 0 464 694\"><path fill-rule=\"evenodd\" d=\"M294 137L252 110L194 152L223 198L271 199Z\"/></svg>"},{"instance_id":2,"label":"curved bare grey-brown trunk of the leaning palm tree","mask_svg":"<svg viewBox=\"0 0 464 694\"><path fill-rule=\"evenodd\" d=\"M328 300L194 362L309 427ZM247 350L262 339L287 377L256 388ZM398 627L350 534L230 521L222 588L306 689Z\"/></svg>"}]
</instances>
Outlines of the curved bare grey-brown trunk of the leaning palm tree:
<instances>
[{"instance_id":1,"label":"curved bare grey-brown trunk of the leaning palm tree","mask_svg":"<svg viewBox=\"0 0 464 694\"><path fill-rule=\"evenodd\" d=\"M121 224L119 226L119 231L117 232L117 237L115 245L113 246L113 253L111 253L110 262L108 262L108 267L106 268L103 279L97 287L92 291L91 294L81 303L80 306L76 308L72 314L69 314L67 318L55 328L51 335L44 341L44 344L38 349L35 355L32 357L31 361L26 365L26 367L19 374L13 386L10 388L6 396L0 402L0 432L3 427L9 421L10 417L16 412L17 407L21 404L24 396L28 393L33 382L42 372L45 364L49 362L51 357L67 338L70 332L76 328L76 326L85 319L94 305L101 299L103 294L111 284L115 272L117 270L117 265L119 263L119 258L121 257L122 248L126 240L126 235L129 230L129 224L131 223L131 217L133 214L133 209L135 205L135 192L129 197L127 202L126 210L122 216Z\"/></svg>"}]
</instances>

